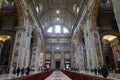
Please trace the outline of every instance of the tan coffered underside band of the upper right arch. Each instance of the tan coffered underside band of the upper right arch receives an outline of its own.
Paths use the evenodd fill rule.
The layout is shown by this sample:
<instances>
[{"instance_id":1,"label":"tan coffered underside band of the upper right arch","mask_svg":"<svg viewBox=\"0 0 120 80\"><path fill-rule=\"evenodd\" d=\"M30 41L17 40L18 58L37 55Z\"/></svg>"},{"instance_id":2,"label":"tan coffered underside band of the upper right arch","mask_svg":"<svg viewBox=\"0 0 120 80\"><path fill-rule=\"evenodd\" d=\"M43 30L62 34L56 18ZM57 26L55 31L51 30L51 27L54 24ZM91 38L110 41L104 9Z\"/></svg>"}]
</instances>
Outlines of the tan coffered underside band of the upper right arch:
<instances>
[{"instance_id":1,"label":"tan coffered underside band of the upper right arch","mask_svg":"<svg viewBox=\"0 0 120 80\"><path fill-rule=\"evenodd\" d=\"M92 12L91 12L91 24L94 27L97 27L97 15L99 11L99 6L102 0L94 0L92 5Z\"/></svg>"}]
</instances>

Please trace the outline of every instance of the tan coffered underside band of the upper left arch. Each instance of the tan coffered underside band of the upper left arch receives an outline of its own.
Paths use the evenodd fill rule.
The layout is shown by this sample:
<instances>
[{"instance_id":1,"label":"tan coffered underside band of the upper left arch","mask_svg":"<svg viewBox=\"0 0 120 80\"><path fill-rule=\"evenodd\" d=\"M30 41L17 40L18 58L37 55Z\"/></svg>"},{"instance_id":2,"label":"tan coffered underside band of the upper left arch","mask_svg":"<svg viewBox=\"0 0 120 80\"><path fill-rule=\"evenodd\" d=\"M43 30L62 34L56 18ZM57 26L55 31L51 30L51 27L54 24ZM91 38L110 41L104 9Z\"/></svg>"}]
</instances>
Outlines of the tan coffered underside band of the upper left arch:
<instances>
[{"instance_id":1,"label":"tan coffered underside band of the upper left arch","mask_svg":"<svg viewBox=\"0 0 120 80\"><path fill-rule=\"evenodd\" d=\"M22 0L13 0L15 3L15 7L18 12L18 26L24 26L25 20L24 20L24 12L22 7Z\"/></svg>"}]
</instances>

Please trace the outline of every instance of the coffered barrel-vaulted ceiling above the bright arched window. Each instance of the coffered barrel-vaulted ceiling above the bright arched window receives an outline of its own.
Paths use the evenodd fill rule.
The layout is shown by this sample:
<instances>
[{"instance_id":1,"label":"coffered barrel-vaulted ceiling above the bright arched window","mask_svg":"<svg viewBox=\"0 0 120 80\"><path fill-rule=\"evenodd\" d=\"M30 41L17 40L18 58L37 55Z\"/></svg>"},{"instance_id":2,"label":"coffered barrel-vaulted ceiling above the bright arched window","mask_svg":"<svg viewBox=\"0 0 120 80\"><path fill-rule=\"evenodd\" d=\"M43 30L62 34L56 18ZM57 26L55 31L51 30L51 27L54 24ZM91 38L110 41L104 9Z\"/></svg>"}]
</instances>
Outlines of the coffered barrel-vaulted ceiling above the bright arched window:
<instances>
[{"instance_id":1,"label":"coffered barrel-vaulted ceiling above the bright arched window","mask_svg":"<svg viewBox=\"0 0 120 80\"><path fill-rule=\"evenodd\" d=\"M36 10L43 30L51 25L62 24L73 28L79 6L83 0L35 0Z\"/></svg>"}]
</instances>

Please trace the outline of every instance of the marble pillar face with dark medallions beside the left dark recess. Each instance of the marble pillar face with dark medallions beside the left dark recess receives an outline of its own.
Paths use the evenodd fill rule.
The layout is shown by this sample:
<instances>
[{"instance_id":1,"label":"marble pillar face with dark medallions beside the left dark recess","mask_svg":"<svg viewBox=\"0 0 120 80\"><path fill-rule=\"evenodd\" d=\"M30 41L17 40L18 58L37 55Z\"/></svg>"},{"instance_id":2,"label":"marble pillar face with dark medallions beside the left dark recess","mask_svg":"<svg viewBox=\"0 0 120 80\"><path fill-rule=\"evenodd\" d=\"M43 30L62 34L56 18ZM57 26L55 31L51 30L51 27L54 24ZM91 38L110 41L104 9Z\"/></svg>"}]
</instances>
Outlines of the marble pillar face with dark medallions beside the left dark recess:
<instances>
[{"instance_id":1,"label":"marble pillar face with dark medallions beside the left dark recess","mask_svg":"<svg viewBox=\"0 0 120 80\"><path fill-rule=\"evenodd\" d=\"M13 48L13 54L11 58L11 66L10 66L10 73L12 73L13 67L18 67L19 63L23 59L21 57L21 47L22 47L22 39L23 39L24 28L18 28L15 36L15 43Z\"/></svg>"}]
</instances>

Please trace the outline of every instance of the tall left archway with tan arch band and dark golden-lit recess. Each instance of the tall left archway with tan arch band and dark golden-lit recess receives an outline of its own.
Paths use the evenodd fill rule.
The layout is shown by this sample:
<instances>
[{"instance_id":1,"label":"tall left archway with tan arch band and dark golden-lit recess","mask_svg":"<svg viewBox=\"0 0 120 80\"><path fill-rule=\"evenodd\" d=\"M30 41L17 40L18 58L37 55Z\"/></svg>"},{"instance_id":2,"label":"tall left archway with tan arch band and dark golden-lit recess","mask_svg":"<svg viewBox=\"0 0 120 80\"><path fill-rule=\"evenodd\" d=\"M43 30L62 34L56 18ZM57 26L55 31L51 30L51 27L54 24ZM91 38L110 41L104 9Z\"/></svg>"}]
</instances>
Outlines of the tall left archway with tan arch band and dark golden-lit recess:
<instances>
[{"instance_id":1,"label":"tall left archway with tan arch band and dark golden-lit recess","mask_svg":"<svg viewBox=\"0 0 120 80\"><path fill-rule=\"evenodd\" d=\"M3 43L0 68L4 68L2 71L8 72L10 69L13 46L15 44L16 27L24 25L23 19L23 11L19 0L3 0L0 10L0 41Z\"/></svg>"}]
</instances>

